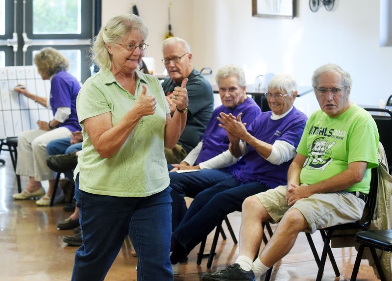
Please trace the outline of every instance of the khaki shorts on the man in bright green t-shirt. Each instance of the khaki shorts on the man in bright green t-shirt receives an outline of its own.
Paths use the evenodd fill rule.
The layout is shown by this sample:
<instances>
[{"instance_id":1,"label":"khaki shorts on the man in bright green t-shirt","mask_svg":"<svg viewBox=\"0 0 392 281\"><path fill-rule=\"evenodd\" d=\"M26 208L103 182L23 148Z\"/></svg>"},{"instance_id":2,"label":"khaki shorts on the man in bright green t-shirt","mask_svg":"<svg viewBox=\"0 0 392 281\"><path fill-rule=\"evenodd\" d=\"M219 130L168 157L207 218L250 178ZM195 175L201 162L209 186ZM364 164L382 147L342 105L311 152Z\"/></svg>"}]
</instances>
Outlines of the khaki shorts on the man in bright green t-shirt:
<instances>
[{"instance_id":1,"label":"khaki shorts on the man in bright green t-shirt","mask_svg":"<svg viewBox=\"0 0 392 281\"><path fill-rule=\"evenodd\" d=\"M362 199L345 191L314 194L289 207L286 192L287 185L280 185L255 196L272 218L270 222L278 223L287 210L295 208L305 217L311 233L318 229L358 221L362 218L365 207Z\"/></svg>"}]
</instances>

